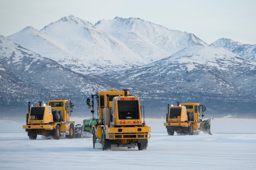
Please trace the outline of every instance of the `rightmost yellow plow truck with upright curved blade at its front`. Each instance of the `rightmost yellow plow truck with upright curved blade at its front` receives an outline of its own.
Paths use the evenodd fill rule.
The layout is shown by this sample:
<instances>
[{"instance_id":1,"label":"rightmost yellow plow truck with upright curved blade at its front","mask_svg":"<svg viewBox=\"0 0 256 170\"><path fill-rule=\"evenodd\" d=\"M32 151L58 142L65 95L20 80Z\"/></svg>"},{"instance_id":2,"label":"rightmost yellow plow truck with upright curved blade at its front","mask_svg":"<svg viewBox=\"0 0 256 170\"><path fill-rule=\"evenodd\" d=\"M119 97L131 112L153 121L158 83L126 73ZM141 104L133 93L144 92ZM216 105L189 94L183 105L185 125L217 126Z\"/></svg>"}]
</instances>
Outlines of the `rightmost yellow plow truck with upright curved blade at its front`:
<instances>
[{"instance_id":1,"label":"rightmost yellow plow truck with upright curved blade at its front","mask_svg":"<svg viewBox=\"0 0 256 170\"><path fill-rule=\"evenodd\" d=\"M170 109L168 104L166 123L164 123L168 135L174 135L174 132L193 135L194 130L201 130L204 133L211 134L209 120L211 121L213 117L207 121L202 121L200 119L200 109L202 109L201 116L203 117L206 107L200 103L191 102L181 103L180 105L180 102L177 102L177 106L171 106ZM208 122L207 125L205 124L206 122Z\"/></svg>"}]
</instances>

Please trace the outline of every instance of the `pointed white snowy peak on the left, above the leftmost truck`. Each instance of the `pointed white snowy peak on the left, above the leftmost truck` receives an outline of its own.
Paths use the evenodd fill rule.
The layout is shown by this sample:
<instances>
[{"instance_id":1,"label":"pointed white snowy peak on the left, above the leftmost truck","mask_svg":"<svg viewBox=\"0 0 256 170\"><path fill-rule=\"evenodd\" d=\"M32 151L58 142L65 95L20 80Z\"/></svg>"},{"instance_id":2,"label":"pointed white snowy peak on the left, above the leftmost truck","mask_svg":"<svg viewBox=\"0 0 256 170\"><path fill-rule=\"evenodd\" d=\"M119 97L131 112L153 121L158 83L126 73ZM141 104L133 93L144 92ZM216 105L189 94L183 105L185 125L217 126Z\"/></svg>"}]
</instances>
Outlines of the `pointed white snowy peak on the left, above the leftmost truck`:
<instances>
[{"instance_id":1,"label":"pointed white snowy peak on the left, above the leftmost truck","mask_svg":"<svg viewBox=\"0 0 256 170\"><path fill-rule=\"evenodd\" d=\"M143 59L90 22L72 15L37 31L8 36L19 45L81 74L99 74L144 64Z\"/></svg>"}]
</instances>

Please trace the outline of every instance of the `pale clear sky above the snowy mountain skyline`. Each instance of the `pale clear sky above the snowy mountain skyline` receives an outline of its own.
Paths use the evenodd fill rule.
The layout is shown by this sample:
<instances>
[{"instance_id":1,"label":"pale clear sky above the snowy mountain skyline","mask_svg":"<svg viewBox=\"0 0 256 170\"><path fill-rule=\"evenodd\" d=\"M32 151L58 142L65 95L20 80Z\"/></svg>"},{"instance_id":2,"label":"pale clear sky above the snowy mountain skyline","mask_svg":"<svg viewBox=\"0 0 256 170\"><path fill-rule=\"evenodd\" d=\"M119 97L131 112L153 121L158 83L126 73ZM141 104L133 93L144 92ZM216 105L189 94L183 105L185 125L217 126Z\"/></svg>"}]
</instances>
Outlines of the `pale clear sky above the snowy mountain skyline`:
<instances>
[{"instance_id":1,"label":"pale clear sky above the snowy mountain skyline","mask_svg":"<svg viewBox=\"0 0 256 170\"><path fill-rule=\"evenodd\" d=\"M115 17L140 18L192 33L207 44L219 38L256 44L255 0L0 0L0 35L27 26L39 31L69 15L92 24Z\"/></svg>"}]
</instances>

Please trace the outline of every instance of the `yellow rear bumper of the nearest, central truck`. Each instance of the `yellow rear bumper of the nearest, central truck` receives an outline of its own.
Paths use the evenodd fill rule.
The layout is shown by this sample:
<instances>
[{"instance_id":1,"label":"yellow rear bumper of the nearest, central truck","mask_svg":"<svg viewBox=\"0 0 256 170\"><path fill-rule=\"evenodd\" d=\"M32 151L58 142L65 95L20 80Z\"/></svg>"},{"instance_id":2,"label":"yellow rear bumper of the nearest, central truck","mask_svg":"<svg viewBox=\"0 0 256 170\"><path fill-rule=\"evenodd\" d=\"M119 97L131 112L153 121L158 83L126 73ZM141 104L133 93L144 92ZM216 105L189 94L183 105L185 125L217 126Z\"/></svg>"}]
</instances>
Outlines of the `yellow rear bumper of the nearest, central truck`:
<instances>
[{"instance_id":1,"label":"yellow rear bumper of the nearest, central truck","mask_svg":"<svg viewBox=\"0 0 256 170\"><path fill-rule=\"evenodd\" d=\"M110 127L108 139L148 139L150 127Z\"/></svg>"}]
</instances>

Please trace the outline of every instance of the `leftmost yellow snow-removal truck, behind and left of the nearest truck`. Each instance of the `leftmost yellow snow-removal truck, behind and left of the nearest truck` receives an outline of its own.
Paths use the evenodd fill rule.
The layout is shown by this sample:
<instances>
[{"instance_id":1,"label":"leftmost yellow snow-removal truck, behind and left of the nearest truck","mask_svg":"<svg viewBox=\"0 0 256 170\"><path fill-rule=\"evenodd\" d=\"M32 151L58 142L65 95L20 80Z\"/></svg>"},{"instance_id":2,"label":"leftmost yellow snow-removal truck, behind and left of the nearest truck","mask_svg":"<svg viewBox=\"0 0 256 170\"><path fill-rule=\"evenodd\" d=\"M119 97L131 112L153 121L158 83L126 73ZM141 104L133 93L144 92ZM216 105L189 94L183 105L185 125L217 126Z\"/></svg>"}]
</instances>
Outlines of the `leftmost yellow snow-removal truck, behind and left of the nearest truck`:
<instances>
[{"instance_id":1,"label":"leftmost yellow snow-removal truck, behind and left of the nearest truck","mask_svg":"<svg viewBox=\"0 0 256 170\"><path fill-rule=\"evenodd\" d=\"M27 124L23 129L28 132L29 139L36 139L37 135L45 138L59 139L60 136L72 139L74 137L75 122L69 121L73 106L69 99L48 100L42 106L31 106L28 102Z\"/></svg>"}]
</instances>

